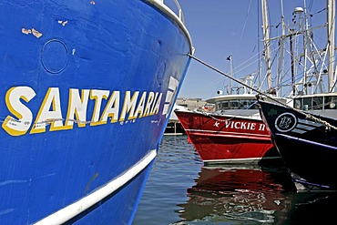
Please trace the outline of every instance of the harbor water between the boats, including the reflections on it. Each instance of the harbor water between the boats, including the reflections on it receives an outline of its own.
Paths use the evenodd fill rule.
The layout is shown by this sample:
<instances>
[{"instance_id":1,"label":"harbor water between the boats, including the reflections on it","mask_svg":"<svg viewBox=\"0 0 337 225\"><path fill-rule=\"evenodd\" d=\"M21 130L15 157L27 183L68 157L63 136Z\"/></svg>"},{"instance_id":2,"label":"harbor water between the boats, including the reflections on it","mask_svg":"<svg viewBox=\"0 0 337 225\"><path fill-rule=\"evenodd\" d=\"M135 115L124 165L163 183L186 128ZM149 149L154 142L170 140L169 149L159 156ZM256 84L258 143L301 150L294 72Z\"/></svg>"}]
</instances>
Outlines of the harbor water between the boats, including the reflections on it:
<instances>
[{"instance_id":1,"label":"harbor water between the boats, including the reflections on it","mask_svg":"<svg viewBox=\"0 0 337 225\"><path fill-rule=\"evenodd\" d=\"M133 225L332 224L336 200L297 193L283 165L204 166L186 135L164 136Z\"/></svg>"}]
</instances>

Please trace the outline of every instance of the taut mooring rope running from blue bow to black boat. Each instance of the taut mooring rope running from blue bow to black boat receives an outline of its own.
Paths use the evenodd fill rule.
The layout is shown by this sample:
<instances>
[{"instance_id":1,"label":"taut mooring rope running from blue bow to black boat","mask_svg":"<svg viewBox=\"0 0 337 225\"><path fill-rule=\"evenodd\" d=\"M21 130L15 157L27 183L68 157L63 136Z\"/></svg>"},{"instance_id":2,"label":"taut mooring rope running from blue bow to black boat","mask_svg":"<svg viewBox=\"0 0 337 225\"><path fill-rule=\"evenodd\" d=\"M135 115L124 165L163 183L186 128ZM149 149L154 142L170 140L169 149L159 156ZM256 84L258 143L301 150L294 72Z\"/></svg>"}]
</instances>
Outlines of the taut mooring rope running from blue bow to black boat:
<instances>
[{"instance_id":1,"label":"taut mooring rope running from blue bow to black boat","mask_svg":"<svg viewBox=\"0 0 337 225\"><path fill-rule=\"evenodd\" d=\"M207 67L209 67L210 69L216 71L217 73L220 73L221 75L223 75L223 76L225 76L225 77L228 77L228 78L234 80L235 82L239 83L240 85L242 85L242 86L244 86L244 87L250 88L251 90L253 90L253 91L255 91L256 93L258 93L260 96L267 97L267 98L271 99L272 101L274 101L274 102L280 104L280 105L283 106L283 107L291 108L292 110L294 110L294 111L300 113L301 115L303 115L305 118L308 118L308 119L310 119L310 120L312 120L312 121L314 121L314 122L322 123L322 125L325 126L326 128L329 128L329 129L332 128L332 129L337 130L337 127L331 125L330 123L328 123L328 122L325 121L325 120L322 120L321 118L316 118L316 117L314 117L313 115L308 114L308 113L305 113L305 112L303 112L303 111L301 111L301 110L299 110L299 109L297 109L297 108L290 107L290 106L288 106L288 105L282 103L281 101L275 99L274 97L271 97L271 96L267 95L266 93L263 93L263 92L261 92L261 91L255 89L254 87L250 87L249 85L247 85L247 84L241 82L239 79L236 79L236 78L234 78L234 77L230 77L230 75L228 75L228 74L226 74L226 73L220 71L219 69L217 69L217 68L214 67L214 66L210 66L209 64L207 64L207 63L205 63L204 61L200 60L200 59L197 58L196 56L192 56L192 55L190 55L190 54L188 54L188 56L191 57L191 58L193 58L194 60L196 60L196 61L199 62L200 64L202 64L202 65L204 65L204 66L207 66Z\"/></svg>"}]
</instances>

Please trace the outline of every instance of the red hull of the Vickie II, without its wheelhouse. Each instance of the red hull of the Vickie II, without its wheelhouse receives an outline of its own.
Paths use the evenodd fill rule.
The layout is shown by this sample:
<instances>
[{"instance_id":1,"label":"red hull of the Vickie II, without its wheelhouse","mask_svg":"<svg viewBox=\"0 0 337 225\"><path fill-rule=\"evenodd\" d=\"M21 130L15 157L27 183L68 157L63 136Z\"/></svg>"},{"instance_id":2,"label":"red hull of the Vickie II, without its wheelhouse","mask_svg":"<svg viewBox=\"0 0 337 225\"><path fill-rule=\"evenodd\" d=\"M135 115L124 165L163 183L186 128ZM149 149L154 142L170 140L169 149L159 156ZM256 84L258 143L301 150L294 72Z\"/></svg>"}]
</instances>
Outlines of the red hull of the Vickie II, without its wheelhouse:
<instances>
[{"instance_id":1,"label":"red hull of the Vickie II, without its wheelhouse","mask_svg":"<svg viewBox=\"0 0 337 225\"><path fill-rule=\"evenodd\" d=\"M175 111L204 163L260 163L281 159L260 119Z\"/></svg>"}]
</instances>

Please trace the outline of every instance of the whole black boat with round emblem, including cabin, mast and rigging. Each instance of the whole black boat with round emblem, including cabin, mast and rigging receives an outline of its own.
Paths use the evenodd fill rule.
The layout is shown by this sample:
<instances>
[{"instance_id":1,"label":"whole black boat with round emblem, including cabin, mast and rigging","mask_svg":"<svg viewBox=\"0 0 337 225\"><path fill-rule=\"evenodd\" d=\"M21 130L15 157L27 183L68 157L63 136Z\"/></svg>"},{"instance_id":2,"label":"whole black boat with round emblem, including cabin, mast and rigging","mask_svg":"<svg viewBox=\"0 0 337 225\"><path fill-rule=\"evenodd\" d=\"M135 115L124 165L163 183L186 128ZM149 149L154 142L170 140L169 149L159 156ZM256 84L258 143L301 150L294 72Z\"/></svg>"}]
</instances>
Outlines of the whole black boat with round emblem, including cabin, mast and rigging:
<instances>
[{"instance_id":1,"label":"whole black boat with round emblem, including cabin, mast and rigging","mask_svg":"<svg viewBox=\"0 0 337 225\"><path fill-rule=\"evenodd\" d=\"M298 33L305 35L308 45L304 46L303 56L310 57L315 66L308 65L301 82L294 84L292 106L270 101L272 98L266 101L268 97L259 96L260 114L299 191L337 190L335 1L327 1L326 9L327 41L323 50L309 52L313 50L311 27L305 26L305 30L311 29ZM300 12L306 19L305 7Z\"/></svg>"}]
</instances>

